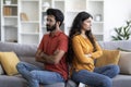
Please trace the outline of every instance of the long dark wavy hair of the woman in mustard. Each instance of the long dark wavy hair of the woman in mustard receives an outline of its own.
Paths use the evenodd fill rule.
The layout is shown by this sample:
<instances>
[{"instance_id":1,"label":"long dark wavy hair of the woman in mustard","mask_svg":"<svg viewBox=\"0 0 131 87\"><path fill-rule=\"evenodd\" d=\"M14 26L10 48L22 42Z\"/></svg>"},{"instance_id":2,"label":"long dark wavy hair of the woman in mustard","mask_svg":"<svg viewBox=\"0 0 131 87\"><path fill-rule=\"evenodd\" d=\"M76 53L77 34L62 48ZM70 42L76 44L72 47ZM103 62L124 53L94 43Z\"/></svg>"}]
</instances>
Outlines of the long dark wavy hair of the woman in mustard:
<instances>
[{"instance_id":1,"label":"long dark wavy hair of the woman in mustard","mask_svg":"<svg viewBox=\"0 0 131 87\"><path fill-rule=\"evenodd\" d=\"M72 49L72 38L73 38L73 36L76 36L76 35L81 34L81 28L82 28L83 21L85 21L90 17L93 18L93 16L90 13L80 12L73 21L73 24L72 24L70 33L69 33L69 50L68 50L68 62L69 63L72 63L73 55L74 55L74 52L73 52L73 49ZM94 40L92 32L86 30L85 35L90 39L90 41L92 42L92 45L94 47L94 51L96 51L96 45L95 45L95 40Z\"/></svg>"}]
</instances>

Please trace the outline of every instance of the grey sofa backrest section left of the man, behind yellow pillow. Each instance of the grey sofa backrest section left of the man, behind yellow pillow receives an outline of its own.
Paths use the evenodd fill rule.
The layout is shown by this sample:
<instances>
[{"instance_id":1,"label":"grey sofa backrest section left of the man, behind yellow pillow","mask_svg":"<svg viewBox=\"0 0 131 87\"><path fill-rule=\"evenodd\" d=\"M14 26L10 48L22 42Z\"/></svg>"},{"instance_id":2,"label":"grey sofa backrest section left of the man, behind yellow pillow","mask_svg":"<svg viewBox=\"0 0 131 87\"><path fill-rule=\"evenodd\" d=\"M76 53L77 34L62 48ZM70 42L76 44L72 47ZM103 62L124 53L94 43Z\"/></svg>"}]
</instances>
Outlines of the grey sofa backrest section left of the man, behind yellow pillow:
<instances>
[{"instance_id":1,"label":"grey sofa backrest section left of the man, behind yellow pillow","mask_svg":"<svg viewBox=\"0 0 131 87\"><path fill-rule=\"evenodd\" d=\"M34 65L43 67L44 65L35 61L35 53L37 50L36 45L24 45L15 42L1 42L0 41L0 51L14 51L19 59L24 62L32 63Z\"/></svg>"}]
</instances>

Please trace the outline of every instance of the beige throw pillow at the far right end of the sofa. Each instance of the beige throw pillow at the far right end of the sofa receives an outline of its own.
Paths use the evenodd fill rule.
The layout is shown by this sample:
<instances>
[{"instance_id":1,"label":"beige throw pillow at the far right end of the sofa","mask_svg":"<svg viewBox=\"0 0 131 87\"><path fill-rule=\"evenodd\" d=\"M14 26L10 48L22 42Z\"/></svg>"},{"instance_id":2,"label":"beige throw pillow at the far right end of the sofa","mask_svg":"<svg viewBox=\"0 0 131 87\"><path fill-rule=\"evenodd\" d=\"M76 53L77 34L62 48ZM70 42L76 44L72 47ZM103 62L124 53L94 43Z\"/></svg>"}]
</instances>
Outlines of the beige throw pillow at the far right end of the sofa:
<instances>
[{"instance_id":1,"label":"beige throw pillow at the far right end of the sofa","mask_svg":"<svg viewBox=\"0 0 131 87\"><path fill-rule=\"evenodd\" d=\"M131 52L120 51L118 65L120 66L120 73L131 74Z\"/></svg>"}]
</instances>

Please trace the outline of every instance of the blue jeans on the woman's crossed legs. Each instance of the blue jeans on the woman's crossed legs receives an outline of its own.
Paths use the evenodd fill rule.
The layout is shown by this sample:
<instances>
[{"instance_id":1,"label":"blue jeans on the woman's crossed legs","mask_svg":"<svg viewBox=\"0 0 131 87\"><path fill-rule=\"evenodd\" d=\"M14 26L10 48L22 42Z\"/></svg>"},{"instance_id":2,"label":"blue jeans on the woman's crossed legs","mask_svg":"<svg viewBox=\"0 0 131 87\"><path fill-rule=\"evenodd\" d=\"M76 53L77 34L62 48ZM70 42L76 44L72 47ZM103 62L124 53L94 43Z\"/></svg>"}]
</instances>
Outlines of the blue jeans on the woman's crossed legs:
<instances>
[{"instance_id":1,"label":"blue jeans on the woman's crossed legs","mask_svg":"<svg viewBox=\"0 0 131 87\"><path fill-rule=\"evenodd\" d=\"M106 65L96 67L94 72L82 70L73 72L72 79L76 83L83 83L92 87L112 87L111 78L118 75L118 65Z\"/></svg>"}]
</instances>

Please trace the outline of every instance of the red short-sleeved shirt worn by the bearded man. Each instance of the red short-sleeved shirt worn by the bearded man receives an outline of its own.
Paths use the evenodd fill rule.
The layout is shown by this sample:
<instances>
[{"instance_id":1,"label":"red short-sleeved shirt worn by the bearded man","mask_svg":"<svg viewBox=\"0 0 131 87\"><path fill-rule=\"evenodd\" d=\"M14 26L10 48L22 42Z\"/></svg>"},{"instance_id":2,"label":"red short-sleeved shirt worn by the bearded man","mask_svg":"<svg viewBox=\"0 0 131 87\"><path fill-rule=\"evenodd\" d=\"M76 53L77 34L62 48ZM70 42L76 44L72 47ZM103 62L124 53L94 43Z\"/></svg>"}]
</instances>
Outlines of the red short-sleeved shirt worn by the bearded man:
<instances>
[{"instance_id":1,"label":"red short-sleeved shirt worn by the bearded man","mask_svg":"<svg viewBox=\"0 0 131 87\"><path fill-rule=\"evenodd\" d=\"M50 34L44 35L38 49L43 50L47 55L52 55L56 50L68 51L68 37L62 32L57 32L52 37ZM58 72L63 76L64 79L68 78L68 64L67 55L64 54L58 64L45 63L45 70Z\"/></svg>"}]
</instances>

